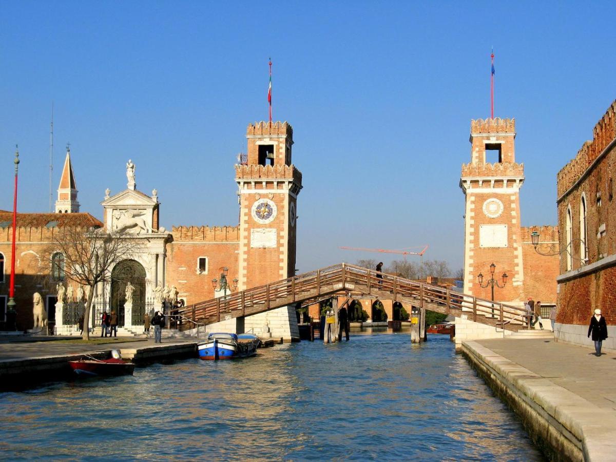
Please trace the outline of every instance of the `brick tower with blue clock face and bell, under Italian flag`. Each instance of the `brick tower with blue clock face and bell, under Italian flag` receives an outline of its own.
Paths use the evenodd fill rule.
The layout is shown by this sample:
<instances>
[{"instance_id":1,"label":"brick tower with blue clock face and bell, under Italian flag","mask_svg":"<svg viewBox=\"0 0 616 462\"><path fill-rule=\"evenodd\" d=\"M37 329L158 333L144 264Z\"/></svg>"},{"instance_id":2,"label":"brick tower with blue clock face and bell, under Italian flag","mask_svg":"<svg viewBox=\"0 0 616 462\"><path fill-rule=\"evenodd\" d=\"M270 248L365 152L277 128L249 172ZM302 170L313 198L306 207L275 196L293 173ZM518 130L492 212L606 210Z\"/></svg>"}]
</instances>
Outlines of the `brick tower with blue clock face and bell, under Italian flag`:
<instances>
[{"instance_id":1,"label":"brick tower with blue clock face and bell, under Italian flag","mask_svg":"<svg viewBox=\"0 0 616 462\"><path fill-rule=\"evenodd\" d=\"M302 174L291 163L293 128L249 124L248 155L235 166L240 195L238 289L295 274L297 198Z\"/></svg>"}]
</instances>

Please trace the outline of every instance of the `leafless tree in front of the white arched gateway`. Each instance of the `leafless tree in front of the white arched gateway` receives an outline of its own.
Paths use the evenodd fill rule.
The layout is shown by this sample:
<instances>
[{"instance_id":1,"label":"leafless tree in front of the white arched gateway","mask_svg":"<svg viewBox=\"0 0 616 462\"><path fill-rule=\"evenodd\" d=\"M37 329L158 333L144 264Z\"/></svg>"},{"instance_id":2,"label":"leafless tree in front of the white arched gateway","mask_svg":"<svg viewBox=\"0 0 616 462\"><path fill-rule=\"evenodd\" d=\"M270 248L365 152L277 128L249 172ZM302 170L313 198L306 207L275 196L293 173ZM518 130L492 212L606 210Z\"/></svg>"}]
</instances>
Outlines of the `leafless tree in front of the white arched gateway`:
<instances>
[{"instance_id":1,"label":"leafless tree in front of the white arched gateway","mask_svg":"<svg viewBox=\"0 0 616 462\"><path fill-rule=\"evenodd\" d=\"M83 339L89 340L89 320L94 299L94 288L100 282L111 280L111 268L117 262L134 257L139 253L139 241L126 232L106 233L100 228L61 227L54 232L52 242L47 248L46 258L53 262L52 256L61 253L63 276L80 286L89 286L86 307L83 314ZM52 263L53 264L53 263ZM50 274L54 268L47 267Z\"/></svg>"}]
</instances>

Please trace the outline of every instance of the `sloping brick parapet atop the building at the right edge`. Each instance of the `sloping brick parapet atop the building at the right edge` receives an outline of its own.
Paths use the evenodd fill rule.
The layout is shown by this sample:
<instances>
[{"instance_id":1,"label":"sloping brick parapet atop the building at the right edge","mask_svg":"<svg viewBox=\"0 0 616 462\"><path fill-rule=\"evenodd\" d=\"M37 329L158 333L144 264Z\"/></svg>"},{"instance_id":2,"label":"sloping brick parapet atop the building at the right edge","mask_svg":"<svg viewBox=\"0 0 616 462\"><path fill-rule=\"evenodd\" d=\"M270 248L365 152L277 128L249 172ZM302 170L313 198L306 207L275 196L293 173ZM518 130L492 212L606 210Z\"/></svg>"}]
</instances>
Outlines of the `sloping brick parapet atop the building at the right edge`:
<instances>
[{"instance_id":1,"label":"sloping brick parapet atop the building at the right edge","mask_svg":"<svg viewBox=\"0 0 616 462\"><path fill-rule=\"evenodd\" d=\"M586 169L616 140L616 100L593 129L593 139L584 142L577 155L556 174L557 195L562 197Z\"/></svg>"}]
</instances>

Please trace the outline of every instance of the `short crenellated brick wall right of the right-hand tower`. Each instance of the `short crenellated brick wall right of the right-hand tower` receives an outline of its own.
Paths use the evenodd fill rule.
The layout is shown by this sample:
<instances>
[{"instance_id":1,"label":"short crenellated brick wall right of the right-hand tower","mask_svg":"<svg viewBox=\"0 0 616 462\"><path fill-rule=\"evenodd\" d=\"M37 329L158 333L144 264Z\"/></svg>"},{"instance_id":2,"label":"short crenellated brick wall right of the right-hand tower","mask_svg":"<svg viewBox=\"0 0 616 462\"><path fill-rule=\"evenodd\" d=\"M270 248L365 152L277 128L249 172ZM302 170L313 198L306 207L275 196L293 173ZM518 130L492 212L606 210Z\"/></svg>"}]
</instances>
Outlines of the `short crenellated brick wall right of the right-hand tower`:
<instances>
[{"instance_id":1,"label":"short crenellated brick wall right of the right-hand tower","mask_svg":"<svg viewBox=\"0 0 616 462\"><path fill-rule=\"evenodd\" d=\"M559 274L559 256L543 256L535 251L530 233L537 231L540 235L540 250L546 253L547 243L558 242L557 226L529 226L520 229L522 258L524 261L524 296L532 297L543 304L556 303L556 278Z\"/></svg>"}]
</instances>

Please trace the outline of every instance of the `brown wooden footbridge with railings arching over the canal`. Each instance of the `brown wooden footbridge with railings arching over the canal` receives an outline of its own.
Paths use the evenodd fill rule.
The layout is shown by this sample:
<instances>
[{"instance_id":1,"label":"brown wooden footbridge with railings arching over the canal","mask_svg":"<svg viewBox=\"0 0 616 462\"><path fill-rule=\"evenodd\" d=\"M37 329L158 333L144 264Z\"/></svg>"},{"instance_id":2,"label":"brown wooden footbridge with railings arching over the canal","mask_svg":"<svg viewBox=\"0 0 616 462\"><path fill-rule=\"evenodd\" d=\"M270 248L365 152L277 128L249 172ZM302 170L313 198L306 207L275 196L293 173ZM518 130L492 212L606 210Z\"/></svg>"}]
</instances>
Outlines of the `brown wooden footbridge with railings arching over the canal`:
<instances>
[{"instance_id":1,"label":"brown wooden footbridge with railings arching over the canal","mask_svg":"<svg viewBox=\"0 0 616 462\"><path fill-rule=\"evenodd\" d=\"M519 307L346 263L188 305L180 309L179 314L193 323L208 325L284 306L306 304L334 294L390 299L511 331L524 327L526 315ZM182 328L190 329L190 324L184 323Z\"/></svg>"}]
</instances>

